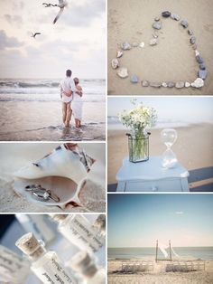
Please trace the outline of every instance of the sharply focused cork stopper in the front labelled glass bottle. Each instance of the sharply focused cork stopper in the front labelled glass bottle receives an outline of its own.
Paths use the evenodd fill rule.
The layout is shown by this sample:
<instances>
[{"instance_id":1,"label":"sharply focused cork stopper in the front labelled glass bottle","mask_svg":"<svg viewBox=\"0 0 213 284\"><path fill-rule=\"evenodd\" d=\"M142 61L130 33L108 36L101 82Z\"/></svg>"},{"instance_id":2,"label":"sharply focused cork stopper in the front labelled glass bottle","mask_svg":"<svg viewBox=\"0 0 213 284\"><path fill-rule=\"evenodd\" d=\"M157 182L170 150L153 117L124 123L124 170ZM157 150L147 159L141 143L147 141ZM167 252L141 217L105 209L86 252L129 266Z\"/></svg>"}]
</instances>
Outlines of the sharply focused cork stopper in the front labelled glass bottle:
<instances>
[{"instance_id":1,"label":"sharply focused cork stopper in the front labelled glass bottle","mask_svg":"<svg viewBox=\"0 0 213 284\"><path fill-rule=\"evenodd\" d=\"M41 243L34 237L32 232L28 232L15 242L23 253L31 258L39 258L45 251Z\"/></svg>"}]
</instances>

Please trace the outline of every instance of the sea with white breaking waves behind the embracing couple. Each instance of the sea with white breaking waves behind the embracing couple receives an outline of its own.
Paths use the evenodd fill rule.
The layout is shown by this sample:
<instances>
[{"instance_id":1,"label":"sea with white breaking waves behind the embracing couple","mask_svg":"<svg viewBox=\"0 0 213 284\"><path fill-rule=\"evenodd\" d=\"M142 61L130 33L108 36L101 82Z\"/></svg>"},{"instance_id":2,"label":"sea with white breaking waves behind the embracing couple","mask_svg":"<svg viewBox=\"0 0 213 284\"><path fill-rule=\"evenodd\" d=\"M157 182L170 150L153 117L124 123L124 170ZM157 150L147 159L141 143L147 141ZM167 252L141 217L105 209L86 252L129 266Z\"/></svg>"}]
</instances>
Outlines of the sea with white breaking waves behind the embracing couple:
<instances>
[{"instance_id":1,"label":"sea with white breaking waves behind the embracing couple","mask_svg":"<svg viewBox=\"0 0 213 284\"><path fill-rule=\"evenodd\" d=\"M0 100L3 101L60 101L61 79L1 79ZM105 102L106 80L79 80L83 99Z\"/></svg>"}]
</instances>

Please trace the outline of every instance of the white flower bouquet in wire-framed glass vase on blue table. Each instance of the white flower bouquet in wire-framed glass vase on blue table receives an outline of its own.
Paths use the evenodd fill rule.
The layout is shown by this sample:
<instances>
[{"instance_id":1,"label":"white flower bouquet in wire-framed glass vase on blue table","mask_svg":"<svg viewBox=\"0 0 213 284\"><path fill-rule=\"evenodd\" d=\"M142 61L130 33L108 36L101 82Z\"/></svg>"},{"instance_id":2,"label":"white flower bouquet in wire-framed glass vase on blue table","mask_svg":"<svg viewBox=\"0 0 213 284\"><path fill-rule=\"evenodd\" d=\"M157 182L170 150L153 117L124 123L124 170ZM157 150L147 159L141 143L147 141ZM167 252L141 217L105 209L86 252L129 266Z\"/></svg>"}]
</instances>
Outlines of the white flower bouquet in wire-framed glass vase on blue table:
<instances>
[{"instance_id":1,"label":"white flower bouquet in wire-framed glass vase on blue table","mask_svg":"<svg viewBox=\"0 0 213 284\"><path fill-rule=\"evenodd\" d=\"M131 162L146 161L149 158L149 134L147 128L156 125L156 110L145 107L143 103L132 100L134 109L119 113L119 119L127 128L131 128L129 137L129 159Z\"/></svg>"}]
</instances>

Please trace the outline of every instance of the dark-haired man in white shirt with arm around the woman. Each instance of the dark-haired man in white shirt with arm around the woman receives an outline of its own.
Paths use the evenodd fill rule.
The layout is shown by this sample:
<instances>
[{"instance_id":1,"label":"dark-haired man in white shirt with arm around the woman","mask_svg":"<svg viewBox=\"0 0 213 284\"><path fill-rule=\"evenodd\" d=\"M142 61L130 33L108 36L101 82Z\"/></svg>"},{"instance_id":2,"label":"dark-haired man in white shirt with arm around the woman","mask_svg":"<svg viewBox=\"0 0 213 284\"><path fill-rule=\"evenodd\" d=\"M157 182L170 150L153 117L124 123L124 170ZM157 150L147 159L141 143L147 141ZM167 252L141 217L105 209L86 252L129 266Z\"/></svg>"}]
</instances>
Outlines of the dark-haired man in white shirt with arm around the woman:
<instances>
[{"instance_id":1,"label":"dark-haired man in white shirt with arm around the woman","mask_svg":"<svg viewBox=\"0 0 213 284\"><path fill-rule=\"evenodd\" d=\"M62 101L62 118L65 127L69 127L71 118L71 101L73 92L77 91L74 80L71 79L72 71L66 71L66 78L60 81L60 99Z\"/></svg>"}]
</instances>

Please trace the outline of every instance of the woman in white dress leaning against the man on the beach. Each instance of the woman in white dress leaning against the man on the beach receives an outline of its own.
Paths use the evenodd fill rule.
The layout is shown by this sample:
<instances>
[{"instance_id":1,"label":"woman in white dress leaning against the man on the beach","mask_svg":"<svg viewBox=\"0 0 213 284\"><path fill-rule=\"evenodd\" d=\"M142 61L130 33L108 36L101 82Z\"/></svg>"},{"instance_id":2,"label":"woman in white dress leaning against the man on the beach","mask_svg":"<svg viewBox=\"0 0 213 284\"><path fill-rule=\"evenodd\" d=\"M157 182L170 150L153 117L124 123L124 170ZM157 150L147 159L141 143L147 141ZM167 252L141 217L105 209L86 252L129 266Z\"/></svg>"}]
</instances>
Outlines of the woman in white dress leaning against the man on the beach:
<instances>
[{"instance_id":1,"label":"woman in white dress leaning against the man on the beach","mask_svg":"<svg viewBox=\"0 0 213 284\"><path fill-rule=\"evenodd\" d=\"M76 91L74 92L73 100L72 100L72 113L75 118L76 128L81 127L81 119L82 119L82 107L83 107L83 99L82 99L82 88L79 86L79 78L74 78L74 82L76 85L76 89L79 90L78 94Z\"/></svg>"}]
</instances>

